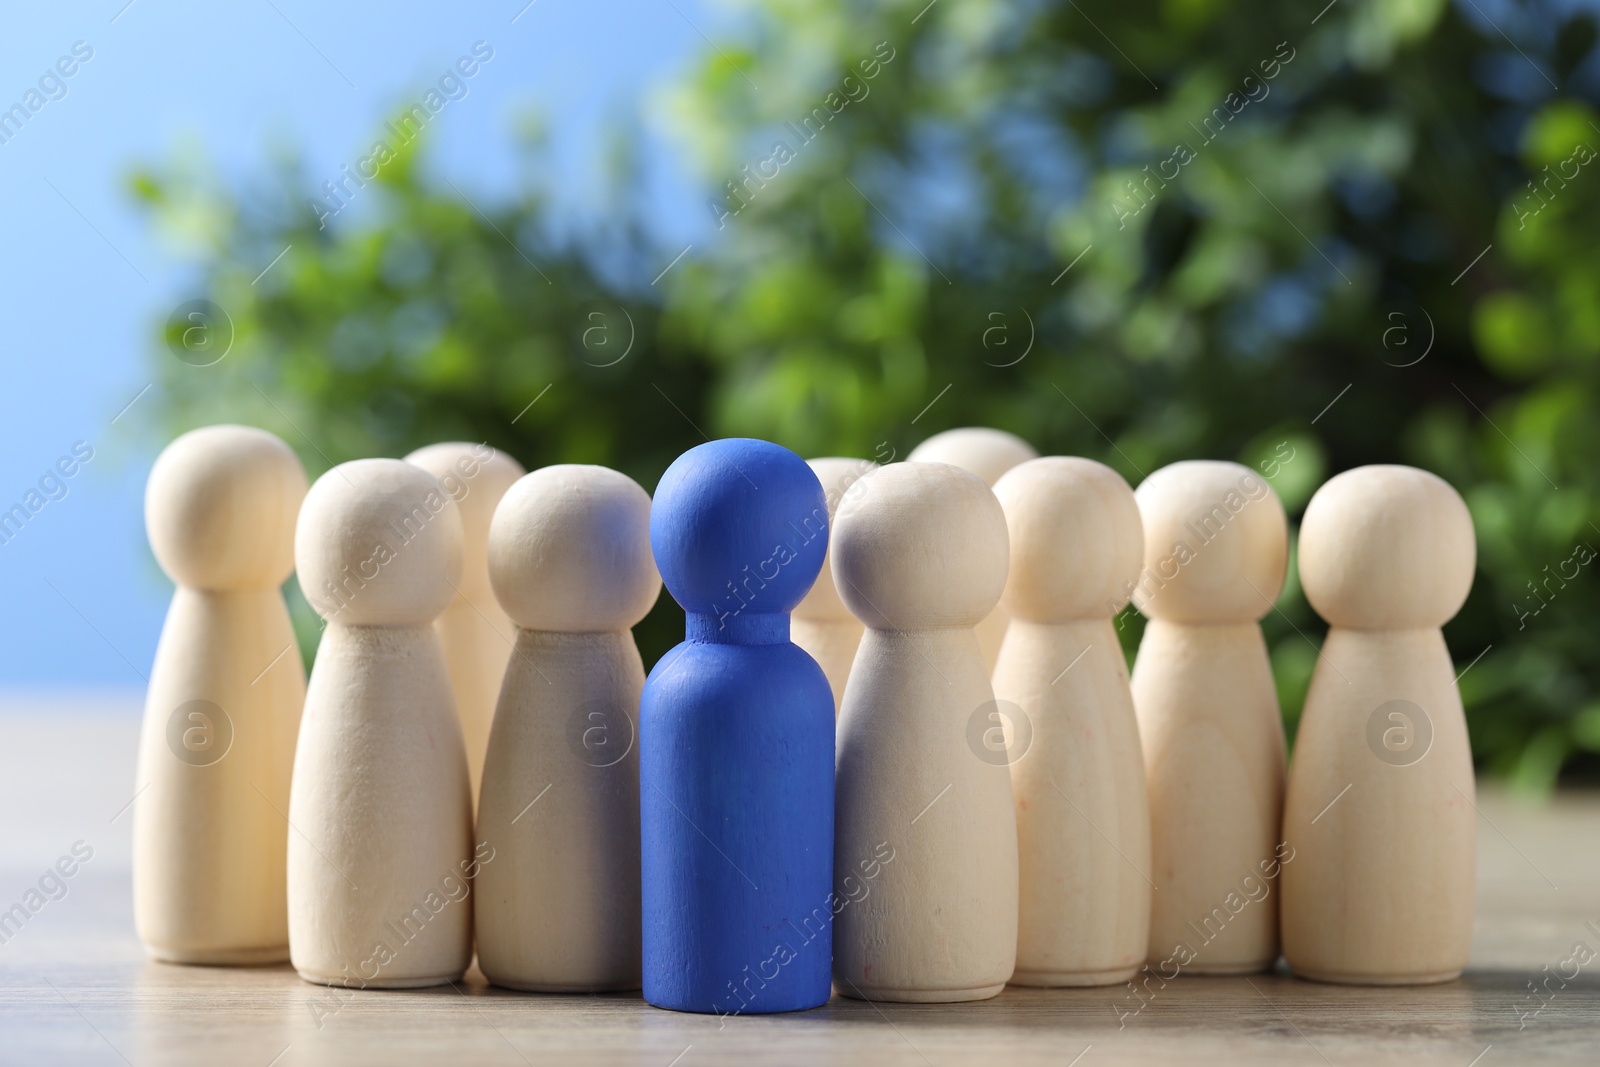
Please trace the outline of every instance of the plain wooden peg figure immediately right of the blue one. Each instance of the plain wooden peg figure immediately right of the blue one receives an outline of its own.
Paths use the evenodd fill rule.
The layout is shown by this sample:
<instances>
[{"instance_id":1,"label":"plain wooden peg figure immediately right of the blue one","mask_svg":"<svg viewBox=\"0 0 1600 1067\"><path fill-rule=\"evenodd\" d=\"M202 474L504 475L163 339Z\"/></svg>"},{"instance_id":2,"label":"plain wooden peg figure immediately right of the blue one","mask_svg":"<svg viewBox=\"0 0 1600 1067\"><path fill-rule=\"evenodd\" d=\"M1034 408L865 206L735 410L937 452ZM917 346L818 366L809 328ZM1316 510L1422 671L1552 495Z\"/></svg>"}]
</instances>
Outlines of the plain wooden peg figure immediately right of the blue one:
<instances>
[{"instance_id":1,"label":"plain wooden peg figure immediately right of the blue one","mask_svg":"<svg viewBox=\"0 0 1600 1067\"><path fill-rule=\"evenodd\" d=\"M1016 965L1016 819L973 627L1005 587L1005 515L966 470L894 464L840 506L832 550L867 627L838 717L838 992L994 997Z\"/></svg>"}]
</instances>

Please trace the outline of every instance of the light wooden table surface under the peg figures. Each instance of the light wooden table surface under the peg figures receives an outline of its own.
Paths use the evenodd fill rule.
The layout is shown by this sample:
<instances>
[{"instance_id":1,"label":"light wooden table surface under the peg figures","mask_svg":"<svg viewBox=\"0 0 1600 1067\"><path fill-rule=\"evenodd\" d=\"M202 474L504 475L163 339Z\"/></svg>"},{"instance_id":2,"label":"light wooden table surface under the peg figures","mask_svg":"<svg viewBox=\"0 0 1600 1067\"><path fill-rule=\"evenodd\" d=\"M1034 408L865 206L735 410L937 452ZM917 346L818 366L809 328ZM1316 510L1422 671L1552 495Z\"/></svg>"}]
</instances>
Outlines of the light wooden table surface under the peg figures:
<instances>
[{"instance_id":1,"label":"light wooden table surface under the peg figures","mask_svg":"<svg viewBox=\"0 0 1600 1067\"><path fill-rule=\"evenodd\" d=\"M1574 944L1600 952L1597 795L1528 808L1483 790L1472 968L1446 985L1179 977L1122 1021L1117 1006L1136 1005L1126 989L1008 989L979 1005L875 1006L835 997L818 1011L718 1022L658 1011L638 997L502 992L472 969L459 989L355 992L333 1011L326 990L288 966L144 960L128 870L136 736L138 707L128 699L0 701L0 910L75 841L94 849L66 883L67 894L0 944L0 1062L1600 1062L1600 958L1565 987L1549 977ZM1528 982L1547 977L1555 992L1534 1001Z\"/></svg>"}]
</instances>

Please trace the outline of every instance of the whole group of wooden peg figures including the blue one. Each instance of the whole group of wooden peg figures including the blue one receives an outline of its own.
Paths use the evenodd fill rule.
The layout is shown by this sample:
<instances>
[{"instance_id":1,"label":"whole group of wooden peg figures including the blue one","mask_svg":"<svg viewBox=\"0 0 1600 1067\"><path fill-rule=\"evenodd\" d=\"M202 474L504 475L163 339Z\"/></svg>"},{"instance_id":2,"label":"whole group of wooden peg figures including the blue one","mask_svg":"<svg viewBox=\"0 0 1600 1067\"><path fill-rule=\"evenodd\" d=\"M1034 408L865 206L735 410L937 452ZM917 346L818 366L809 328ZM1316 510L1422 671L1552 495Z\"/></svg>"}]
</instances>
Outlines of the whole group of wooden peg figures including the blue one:
<instances>
[{"instance_id":1,"label":"whole group of wooden peg figures including the blue one","mask_svg":"<svg viewBox=\"0 0 1600 1067\"><path fill-rule=\"evenodd\" d=\"M1467 961L1438 627L1475 542L1432 474L1349 470L1306 510L1331 629L1288 769L1259 629L1288 525L1230 462L1134 493L998 430L883 467L718 440L651 501L446 443L307 491L218 426L162 453L146 518L178 584L134 830L158 960L402 989L475 942L499 985L722 1014ZM309 686L291 569L326 621ZM646 680L662 581L686 640Z\"/></svg>"}]
</instances>

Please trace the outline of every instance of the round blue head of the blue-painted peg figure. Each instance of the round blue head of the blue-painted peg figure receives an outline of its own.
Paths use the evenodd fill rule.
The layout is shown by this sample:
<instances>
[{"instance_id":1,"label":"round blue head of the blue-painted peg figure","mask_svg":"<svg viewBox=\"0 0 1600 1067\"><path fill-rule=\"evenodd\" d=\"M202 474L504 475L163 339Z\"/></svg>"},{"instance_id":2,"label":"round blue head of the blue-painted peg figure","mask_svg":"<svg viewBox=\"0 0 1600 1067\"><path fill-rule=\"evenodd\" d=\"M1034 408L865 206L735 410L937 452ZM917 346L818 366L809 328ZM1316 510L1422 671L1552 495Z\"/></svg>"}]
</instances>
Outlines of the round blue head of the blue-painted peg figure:
<instances>
[{"instance_id":1,"label":"round blue head of the blue-painted peg figure","mask_svg":"<svg viewBox=\"0 0 1600 1067\"><path fill-rule=\"evenodd\" d=\"M709 442L661 475L650 545L672 598L720 619L787 614L827 552L827 499L800 456L746 437Z\"/></svg>"}]
</instances>

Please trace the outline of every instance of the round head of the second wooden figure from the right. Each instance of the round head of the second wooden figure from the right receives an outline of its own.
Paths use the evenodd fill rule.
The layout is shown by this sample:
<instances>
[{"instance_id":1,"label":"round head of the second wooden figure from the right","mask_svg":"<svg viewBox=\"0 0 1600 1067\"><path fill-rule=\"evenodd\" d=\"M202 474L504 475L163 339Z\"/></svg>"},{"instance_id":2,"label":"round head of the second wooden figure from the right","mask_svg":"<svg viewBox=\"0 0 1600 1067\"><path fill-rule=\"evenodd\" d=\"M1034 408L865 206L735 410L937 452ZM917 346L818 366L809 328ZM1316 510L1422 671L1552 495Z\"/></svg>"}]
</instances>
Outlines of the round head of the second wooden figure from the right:
<instances>
[{"instance_id":1,"label":"round head of the second wooden figure from the right","mask_svg":"<svg viewBox=\"0 0 1600 1067\"><path fill-rule=\"evenodd\" d=\"M1168 622L1253 622L1288 569L1288 517L1266 480L1235 462L1187 459L1134 493L1144 569L1133 603Z\"/></svg>"}]
</instances>

